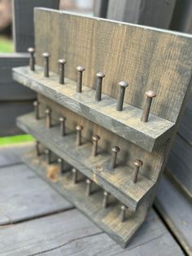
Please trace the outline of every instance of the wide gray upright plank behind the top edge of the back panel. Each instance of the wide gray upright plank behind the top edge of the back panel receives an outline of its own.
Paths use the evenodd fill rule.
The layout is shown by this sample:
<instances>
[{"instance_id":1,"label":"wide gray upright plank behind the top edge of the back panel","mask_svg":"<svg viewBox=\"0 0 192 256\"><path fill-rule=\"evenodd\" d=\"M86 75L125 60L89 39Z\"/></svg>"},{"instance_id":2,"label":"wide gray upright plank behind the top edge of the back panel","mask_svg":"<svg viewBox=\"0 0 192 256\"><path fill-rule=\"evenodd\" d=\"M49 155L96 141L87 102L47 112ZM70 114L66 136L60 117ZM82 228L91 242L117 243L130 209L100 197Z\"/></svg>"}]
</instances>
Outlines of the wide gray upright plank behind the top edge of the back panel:
<instances>
[{"instance_id":1,"label":"wide gray upright plank behind the top edge of the back panel","mask_svg":"<svg viewBox=\"0 0 192 256\"><path fill-rule=\"evenodd\" d=\"M175 4L176 0L109 0L107 19L168 29Z\"/></svg>"}]
</instances>

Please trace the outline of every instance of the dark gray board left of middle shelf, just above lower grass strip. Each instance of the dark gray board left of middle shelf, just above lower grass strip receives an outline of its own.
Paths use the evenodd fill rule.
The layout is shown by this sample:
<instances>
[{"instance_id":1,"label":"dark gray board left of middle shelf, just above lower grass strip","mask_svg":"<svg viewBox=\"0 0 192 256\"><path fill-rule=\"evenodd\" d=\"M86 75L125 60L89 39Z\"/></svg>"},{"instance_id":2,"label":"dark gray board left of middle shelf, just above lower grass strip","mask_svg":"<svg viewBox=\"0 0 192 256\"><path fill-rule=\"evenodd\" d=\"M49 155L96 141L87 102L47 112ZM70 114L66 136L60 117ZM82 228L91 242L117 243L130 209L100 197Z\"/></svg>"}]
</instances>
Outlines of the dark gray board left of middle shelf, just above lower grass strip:
<instances>
[{"instance_id":1,"label":"dark gray board left of middle shelf, just above lower grass strip","mask_svg":"<svg viewBox=\"0 0 192 256\"><path fill-rule=\"evenodd\" d=\"M16 126L16 117L32 110L32 101L0 102L0 136L23 134L24 132Z\"/></svg>"}]
</instances>

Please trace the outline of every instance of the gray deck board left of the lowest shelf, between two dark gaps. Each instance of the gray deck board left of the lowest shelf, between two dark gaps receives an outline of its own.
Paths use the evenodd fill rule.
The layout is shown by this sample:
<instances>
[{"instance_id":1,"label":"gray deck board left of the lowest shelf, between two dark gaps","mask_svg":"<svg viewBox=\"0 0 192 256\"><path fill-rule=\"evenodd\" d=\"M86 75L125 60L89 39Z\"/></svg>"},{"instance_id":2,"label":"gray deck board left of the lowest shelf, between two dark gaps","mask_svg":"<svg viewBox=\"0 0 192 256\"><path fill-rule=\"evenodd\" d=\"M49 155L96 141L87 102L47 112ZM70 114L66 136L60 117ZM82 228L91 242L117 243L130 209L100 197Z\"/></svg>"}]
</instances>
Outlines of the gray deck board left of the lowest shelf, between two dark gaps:
<instances>
[{"instance_id":1,"label":"gray deck board left of the lowest shelf, between two dark gaps","mask_svg":"<svg viewBox=\"0 0 192 256\"><path fill-rule=\"evenodd\" d=\"M24 164L1 167L0 176L1 225L72 208Z\"/></svg>"}]
</instances>

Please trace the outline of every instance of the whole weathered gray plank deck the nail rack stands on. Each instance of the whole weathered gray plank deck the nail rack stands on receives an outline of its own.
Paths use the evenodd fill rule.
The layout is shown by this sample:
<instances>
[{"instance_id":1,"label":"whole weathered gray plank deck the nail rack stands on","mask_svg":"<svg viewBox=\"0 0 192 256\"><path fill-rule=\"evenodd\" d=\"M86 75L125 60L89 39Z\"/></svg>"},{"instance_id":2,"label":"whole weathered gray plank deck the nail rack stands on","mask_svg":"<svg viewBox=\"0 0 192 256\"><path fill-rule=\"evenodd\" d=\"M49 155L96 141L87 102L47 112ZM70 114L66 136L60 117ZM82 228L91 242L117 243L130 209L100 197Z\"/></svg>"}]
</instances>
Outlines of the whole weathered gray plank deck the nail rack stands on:
<instances>
[{"instance_id":1,"label":"whole weathered gray plank deck the nail rack stands on","mask_svg":"<svg viewBox=\"0 0 192 256\"><path fill-rule=\"evenodd\" d=\"M168 223L177 224L166 227L152 209L128 248L122 249L20 161L20 154L31 147L32 143L26 143L0 149L0 255L177 256L184 255L183 249L192 252L191 222L185 222L187 216L191 218L191 204L182 206L185 223L181 225L173 202L168 209L174 210L174 218L166 211L168 182L161 184L156 207L160 214L167 212Z\"/></svg>"}]
</instances>

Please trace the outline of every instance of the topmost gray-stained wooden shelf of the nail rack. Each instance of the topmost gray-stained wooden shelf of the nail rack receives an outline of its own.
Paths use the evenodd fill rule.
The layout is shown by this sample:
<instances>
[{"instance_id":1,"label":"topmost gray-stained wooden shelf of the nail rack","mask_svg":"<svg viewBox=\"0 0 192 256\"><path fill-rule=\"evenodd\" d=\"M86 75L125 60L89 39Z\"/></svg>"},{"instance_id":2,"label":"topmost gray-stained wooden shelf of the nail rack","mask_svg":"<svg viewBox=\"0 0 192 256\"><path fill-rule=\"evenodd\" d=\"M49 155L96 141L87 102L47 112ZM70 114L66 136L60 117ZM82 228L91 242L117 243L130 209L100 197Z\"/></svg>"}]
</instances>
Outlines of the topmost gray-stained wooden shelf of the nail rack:
<instances>
[{"instance_id":1,"label":"topmost gray-stained wooden shelf of the nail rack","mask_svg":"<svg viewBox=\"0 0 192 256\"><path fill-rule=\"evenodd\" d=\"M66 78L65 85L60 85L58 74L44 77L43 69L38 66L35 72L28 67L13 68L13 78L148 152L172 135L174 122L150 114L149 121L144 123L140 120L142 109L124 104L123 111L118 112L116 99L103 94L103 100L95 102L94 90L83 86L83 92L76 93L76 82Z\"/></svg>"}]
</instances>

